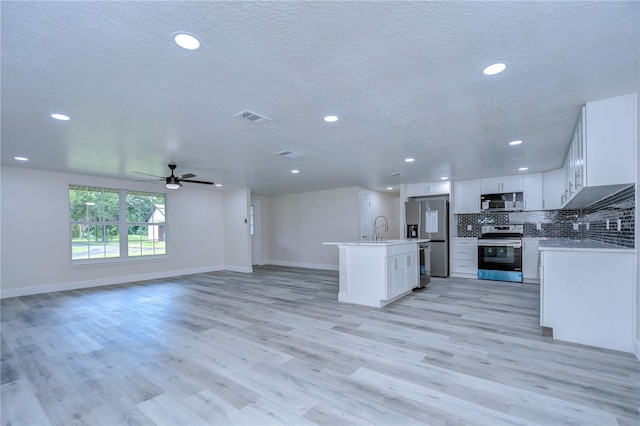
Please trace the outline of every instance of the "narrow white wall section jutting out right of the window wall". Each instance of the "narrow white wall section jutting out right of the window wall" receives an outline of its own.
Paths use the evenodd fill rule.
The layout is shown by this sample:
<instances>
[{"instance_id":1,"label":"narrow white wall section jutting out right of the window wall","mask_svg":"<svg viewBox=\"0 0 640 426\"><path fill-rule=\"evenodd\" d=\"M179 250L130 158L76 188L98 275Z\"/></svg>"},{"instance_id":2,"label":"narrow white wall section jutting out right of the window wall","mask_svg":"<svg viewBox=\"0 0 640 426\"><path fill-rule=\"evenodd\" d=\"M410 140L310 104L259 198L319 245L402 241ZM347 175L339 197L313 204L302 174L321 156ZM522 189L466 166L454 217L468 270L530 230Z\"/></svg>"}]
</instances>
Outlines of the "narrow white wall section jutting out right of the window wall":
<instances>
[{"instance_id":1,"label":"narrow white wall section jutting out right of the window wall","mask_svg":"<svg viewBox=\"0 0 640 426\"><path fill-rule=\"evenodd\" d=\"M225 269L251 272L251 235L249 230L248 189L224 192L224 264Z\"/></svg>"}]
</instances>

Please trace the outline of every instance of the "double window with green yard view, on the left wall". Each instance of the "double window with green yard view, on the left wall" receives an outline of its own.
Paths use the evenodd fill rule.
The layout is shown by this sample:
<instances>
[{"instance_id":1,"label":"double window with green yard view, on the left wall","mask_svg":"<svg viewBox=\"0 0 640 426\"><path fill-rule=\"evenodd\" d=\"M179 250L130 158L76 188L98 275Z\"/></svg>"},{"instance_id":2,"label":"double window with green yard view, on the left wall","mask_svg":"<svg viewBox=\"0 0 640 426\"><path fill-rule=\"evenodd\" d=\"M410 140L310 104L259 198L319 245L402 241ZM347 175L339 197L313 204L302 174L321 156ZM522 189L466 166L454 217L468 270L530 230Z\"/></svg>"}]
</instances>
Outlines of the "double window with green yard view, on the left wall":
<instances>
[{"instance_id":1,"label":"double window with green yard view, on the left wall","mask_svg":"<svg viewBox=\"0 0 640 426\"><path fill-rule=\"evenodd\" d=\"M165 255L165 194L69 186L71 260Z\"/></svg>"}]
</instances>

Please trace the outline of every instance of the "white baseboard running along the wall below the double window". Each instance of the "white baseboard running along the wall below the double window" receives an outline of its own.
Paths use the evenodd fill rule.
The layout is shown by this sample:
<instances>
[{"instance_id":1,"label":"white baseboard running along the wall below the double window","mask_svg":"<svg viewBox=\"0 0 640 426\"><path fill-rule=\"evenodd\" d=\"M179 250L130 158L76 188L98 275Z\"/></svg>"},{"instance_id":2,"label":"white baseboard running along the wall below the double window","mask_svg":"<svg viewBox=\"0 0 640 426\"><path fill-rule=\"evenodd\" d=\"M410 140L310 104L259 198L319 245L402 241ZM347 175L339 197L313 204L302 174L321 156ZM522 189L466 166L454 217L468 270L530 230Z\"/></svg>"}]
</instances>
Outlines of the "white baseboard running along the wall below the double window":
<instances>
[{"instance_id":1,"label":"white baseboard running along the wall below the double window","mask_svg":"<svg viewBox=\"0 0 640 426\"><path fill-rule=\"evenodd\" d=\"M100 287L105 285L123 284L136 281L157 280L177 277L180 275L202 274L206 272L234 271L253 272L251 267L240 266L207 266L202 268L179 269L174 271L155 272L151 274L123 275L120 277L101 278L96 280L73 281L67 283L47 284L33 287L11 288L0 290L0 299L9 297L29 296L32 294L53 293L55 291L78 290L82 288Z\"/></svg>"}]
</instances>

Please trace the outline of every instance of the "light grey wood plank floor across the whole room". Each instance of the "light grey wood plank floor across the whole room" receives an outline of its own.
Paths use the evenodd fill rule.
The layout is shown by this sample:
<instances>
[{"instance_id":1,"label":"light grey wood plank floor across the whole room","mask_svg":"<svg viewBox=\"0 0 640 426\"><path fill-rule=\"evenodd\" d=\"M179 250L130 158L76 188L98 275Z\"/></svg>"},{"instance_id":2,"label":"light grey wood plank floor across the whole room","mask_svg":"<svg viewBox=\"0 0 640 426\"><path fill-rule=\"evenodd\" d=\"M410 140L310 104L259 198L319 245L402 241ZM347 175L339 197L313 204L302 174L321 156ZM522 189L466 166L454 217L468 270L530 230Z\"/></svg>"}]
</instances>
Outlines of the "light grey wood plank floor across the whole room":
<instances>
[{"instance_id":1,"label":"light grey wood plank floor across the whole room","mask_svg":"<svg viewBox=\"0 0 640 426\"><path fill-rule=\"evenodd\" d=\"M536 285L382 309L258 267L2 301L3 425L640 423L640 364L538 326Z\"/></svg>"}]
</instances>

